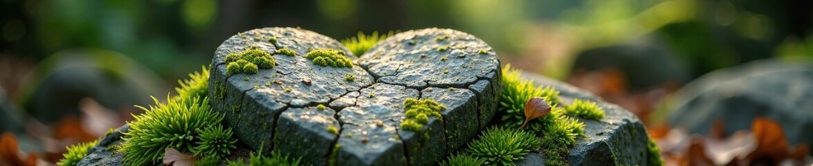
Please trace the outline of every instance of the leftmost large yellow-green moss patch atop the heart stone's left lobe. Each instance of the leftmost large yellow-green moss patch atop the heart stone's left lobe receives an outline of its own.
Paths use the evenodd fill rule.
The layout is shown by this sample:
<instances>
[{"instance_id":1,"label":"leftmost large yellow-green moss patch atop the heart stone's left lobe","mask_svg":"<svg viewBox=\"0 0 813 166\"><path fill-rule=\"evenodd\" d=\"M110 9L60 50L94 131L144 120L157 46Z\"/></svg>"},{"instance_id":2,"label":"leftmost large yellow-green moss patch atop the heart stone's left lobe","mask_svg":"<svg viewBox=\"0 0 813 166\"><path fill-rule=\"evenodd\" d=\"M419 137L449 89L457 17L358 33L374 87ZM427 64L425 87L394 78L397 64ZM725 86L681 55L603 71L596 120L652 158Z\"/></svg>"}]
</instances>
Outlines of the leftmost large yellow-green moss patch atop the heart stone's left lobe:
<instances>
[{"instance_id":1,"label":"leftmost large yellow-green moss patch atop the heart stone's left lobe","mask_svg":"<svg viewBox=\"0 0 813 166\"><path fill-rule=\"evenodd\" d=\"M240 54L226 55L226 73L228 76L237 73L256 74L259 69L274 68L276 61L271 54L257 47L250 47Z\"/></svg>"}]
</instances>

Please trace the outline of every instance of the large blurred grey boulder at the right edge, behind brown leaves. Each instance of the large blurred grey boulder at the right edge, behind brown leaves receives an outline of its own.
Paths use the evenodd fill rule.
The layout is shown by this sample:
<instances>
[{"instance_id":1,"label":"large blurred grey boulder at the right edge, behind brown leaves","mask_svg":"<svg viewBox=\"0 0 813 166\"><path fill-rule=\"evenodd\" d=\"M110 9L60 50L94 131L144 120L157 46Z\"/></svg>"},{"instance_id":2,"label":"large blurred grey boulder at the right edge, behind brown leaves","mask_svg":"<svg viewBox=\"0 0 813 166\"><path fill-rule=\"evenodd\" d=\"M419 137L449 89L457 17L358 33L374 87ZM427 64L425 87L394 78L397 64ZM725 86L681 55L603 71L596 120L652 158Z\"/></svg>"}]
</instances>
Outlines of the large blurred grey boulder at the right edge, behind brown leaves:
<instances>
[{"instance_id":1,"label":"large blurred grey boulder at the right edge, behind brown leaves","mask_svg":"<svg viewBox=\"0 0 813 166\"><path fill-rule=\"evenodd\" d=\"M813 59L764 59L709 72L675 94L668 122L708 135L716 120L724 136L750 130L755 117L782 126L793 144L813 142Z\"/></svg>"}]
</instances>

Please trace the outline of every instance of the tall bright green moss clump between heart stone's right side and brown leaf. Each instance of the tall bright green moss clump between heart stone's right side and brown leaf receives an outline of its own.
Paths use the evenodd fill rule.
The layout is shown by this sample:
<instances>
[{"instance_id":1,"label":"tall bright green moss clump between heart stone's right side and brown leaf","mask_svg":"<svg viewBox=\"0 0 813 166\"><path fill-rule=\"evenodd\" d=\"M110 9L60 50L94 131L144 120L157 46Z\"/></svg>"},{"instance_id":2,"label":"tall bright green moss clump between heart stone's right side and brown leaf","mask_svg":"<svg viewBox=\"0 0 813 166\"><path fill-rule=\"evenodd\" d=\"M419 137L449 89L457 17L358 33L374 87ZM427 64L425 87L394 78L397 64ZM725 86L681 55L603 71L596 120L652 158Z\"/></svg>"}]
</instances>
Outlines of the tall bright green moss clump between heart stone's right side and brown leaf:
<instances>
[{"instance_id":1,"label":"tall bright green moss clump between heart stone's right side and brown leaf","mask_svg":"<svg viewBox=\"0 0 813 166\"><path fill-rule=\"evenodd\" d=\"M555 107L559 103L559 91L550 86L534 87L533 81L523 80L519 70L511 69L511 64L502 68L502 98L500 98L499 111L501 120L506 126L518 128L525 120L525 103L533 97L545 98L548 105ZM534 121L538 121L534 120ZM532 121L533 122L533 121ZM538 123L529 123L537 126Z\"/></svg>"}]
</instances>

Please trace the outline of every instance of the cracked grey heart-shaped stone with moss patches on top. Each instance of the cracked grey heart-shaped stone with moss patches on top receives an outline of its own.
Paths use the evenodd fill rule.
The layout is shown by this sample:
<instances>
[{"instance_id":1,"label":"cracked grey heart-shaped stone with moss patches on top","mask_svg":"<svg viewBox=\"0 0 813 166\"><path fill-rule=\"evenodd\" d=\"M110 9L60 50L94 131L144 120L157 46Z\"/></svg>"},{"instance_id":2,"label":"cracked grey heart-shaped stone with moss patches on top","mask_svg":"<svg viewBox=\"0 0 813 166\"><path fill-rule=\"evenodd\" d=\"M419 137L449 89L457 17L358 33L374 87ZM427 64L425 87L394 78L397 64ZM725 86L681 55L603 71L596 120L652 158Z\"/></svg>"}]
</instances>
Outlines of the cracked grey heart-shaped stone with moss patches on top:
<instances>
[{"instance_id":1,"label":"cracked grey heart-shaped stone with moss patches on top","mask_svg":"<svg viewBox=\"0 0 813 166\"><path fill-rule=\"evenodd\" d=\"M269 53L274 65L229 72L254 65L228 58L246 50ZM315 165L436 164L485 127L502 90L491 47L440 28L398 33L361 58L319 33L259 28L228 38L212 66L211 104L237 138L254 150L279 150ZM402 129L407 98L432 99L445 109L418 131Z\"/></svg>"}]
</instances>

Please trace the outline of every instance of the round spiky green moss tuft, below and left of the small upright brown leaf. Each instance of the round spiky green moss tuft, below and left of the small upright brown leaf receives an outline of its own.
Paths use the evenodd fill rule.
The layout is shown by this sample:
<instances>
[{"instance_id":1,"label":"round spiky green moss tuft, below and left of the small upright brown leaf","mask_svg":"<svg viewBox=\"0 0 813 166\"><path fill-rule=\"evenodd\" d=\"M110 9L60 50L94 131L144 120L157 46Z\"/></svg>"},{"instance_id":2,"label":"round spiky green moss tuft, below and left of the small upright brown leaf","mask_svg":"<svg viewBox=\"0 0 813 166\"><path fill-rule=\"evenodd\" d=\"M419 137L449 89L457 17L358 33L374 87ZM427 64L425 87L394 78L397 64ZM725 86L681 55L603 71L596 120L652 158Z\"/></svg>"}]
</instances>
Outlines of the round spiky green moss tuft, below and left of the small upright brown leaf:
<instances>
[{"instance_id":1,"label":"round spiky green moss tuft, below and left of the small upright brown leaf","mask_svg":"<svg viewBox=\"0 0 813 166\"><path fill-rule=\"evenodd\" d=\"M524 159L524 155L531 151L537 151L541 142L533 133L492 127L468 146L467 152L485 159L485 164L515 165L514 161Z\"/></svg>"}]
</instances>

